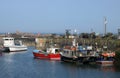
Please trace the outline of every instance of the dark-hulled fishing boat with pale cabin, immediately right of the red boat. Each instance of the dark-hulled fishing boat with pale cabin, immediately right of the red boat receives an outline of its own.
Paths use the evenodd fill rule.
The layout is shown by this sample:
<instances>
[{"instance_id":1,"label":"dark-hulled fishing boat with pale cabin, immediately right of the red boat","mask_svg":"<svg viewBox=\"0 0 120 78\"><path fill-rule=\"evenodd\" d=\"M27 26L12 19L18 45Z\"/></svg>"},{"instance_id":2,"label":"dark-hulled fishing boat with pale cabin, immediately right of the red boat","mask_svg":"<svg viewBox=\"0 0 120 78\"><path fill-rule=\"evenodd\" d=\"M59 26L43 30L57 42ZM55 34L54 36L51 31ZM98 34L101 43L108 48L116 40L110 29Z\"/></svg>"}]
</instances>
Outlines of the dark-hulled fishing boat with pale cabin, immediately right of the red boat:
<instances>
[{"instance_id":1,"label":"dark-hulled fishing boat with pale cabin, immediately right of the red boat","mask_svg":"<svg viewBox=\"0 0 120 78\"><path fill-rule=\"evenodd\" d=\"M76 63L78 62L78 56L81 55L77 50L76 39L73 39L72 45L66 45L62 49L61 61Z\"/></svg>"}]
</instances>

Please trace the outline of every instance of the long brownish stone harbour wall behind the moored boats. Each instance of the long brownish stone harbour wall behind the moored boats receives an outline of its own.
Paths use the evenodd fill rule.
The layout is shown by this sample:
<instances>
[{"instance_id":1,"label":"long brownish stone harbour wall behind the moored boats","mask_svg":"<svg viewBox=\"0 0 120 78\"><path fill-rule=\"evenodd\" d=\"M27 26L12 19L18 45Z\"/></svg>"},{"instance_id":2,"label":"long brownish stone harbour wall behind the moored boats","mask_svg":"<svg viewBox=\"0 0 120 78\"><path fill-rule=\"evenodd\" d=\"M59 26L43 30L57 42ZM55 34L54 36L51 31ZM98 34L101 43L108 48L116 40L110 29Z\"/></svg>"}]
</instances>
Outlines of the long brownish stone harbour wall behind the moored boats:
<instances>
[{"instance_id":1,"label":"long brownish stone harbour wall behind the moored boats","mask_svg":"<svg viewBox=\"0 0 120 78\"><path fill-rule=\"evenodd\" d=\"M64 45L72 45L72 38L15 38L15 40L21 40L24 45L35 46L36 48L46 48L50 45L56 47L63 47ZM92 45L97 47L108 46L108 49L115 50L120 48L119 39L76 39L79 45ZM0 45L2 45L2 38L0 38Z\"/></svg>"}]
</instances>

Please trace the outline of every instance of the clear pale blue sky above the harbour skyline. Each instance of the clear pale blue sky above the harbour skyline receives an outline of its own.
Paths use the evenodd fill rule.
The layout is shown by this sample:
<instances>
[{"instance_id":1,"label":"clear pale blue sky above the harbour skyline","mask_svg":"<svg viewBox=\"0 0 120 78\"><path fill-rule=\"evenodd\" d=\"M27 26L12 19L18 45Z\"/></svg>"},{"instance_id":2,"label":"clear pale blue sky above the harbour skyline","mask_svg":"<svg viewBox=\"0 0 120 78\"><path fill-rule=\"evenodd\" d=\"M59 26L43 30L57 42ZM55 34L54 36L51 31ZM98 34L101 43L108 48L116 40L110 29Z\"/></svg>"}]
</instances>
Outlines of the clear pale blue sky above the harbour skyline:
<instances>
[{"instance_id":1,"label":"clear pale blue sky above the harbour skyline","mask_svg":"<svg viewBox=\"0 0 120 78\"><path fill-rule=\"evenodd\" d=\"M0 0L0 32L117 33L120 0Z\"/></svg>"}]
</instances>

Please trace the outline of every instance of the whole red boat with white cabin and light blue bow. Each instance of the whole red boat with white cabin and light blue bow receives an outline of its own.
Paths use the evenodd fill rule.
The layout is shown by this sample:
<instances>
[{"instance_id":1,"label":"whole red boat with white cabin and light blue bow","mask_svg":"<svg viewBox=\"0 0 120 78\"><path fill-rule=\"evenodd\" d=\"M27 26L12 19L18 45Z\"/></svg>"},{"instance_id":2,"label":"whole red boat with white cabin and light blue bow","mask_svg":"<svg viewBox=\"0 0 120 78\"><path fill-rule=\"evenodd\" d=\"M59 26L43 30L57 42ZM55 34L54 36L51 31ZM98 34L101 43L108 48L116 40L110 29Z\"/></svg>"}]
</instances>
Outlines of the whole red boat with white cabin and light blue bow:
<instances>
[{"instance_id":1,"label":"whole red boat with white cabin and light blue bow","mask_svg":"<svg viewBox=\"0 0 120 78\"><path fill-rule=\"evenodd\" d=\"M46 52L41 50L33 50L35 58L49 59L49 60L60 60L60 49L59 48L47 48Z\"/></svg>"}]
</instances>

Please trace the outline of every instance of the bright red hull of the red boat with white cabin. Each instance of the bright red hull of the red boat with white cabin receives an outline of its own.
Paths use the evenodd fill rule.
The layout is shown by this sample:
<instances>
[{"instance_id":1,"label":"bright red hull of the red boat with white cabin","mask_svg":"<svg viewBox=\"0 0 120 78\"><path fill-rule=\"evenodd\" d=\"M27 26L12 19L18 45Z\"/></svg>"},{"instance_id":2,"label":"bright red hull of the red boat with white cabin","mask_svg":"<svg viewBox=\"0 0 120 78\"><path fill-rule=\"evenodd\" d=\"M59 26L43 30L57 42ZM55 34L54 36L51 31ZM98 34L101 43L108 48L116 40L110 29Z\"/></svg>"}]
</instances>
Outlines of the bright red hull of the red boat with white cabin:
<instances>
[{"instance_id":1,"label":"bright red hull of the red boat with white cabin","mask_svg":"<svg viewBox=\"0 0 120 78\"><path fill-rule=\"evenodd\" d=\"M38 59L49 59L49 60L60 60L60 54L46 54L33 52L35 58Z\"/></svg>"}]
</instances>

